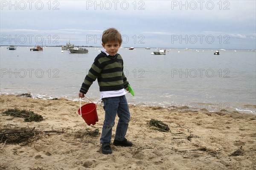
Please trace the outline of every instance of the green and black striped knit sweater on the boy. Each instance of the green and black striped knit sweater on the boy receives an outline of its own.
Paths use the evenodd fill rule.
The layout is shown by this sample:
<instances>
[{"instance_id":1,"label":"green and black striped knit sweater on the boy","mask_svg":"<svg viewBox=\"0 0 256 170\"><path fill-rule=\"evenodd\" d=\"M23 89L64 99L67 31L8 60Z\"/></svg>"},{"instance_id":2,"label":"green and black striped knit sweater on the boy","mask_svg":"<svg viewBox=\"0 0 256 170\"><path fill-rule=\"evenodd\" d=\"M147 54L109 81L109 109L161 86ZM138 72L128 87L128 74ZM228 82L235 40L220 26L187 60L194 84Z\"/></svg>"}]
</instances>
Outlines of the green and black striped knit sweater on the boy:
<instances>
[{"instance_id":1,"label":"green and black striped knit sweater on the boy","mask_svg":"<svg viewBox=\"0 0 256 170\"><path fill-rule=\"evenodd\" d=\"M98 80L99 91L116 91L128 87L123 72L123 60L120 54L108 56L101 52L93 62L80 92L86 94L95 80Z\"/></svg>"}]
</instances>

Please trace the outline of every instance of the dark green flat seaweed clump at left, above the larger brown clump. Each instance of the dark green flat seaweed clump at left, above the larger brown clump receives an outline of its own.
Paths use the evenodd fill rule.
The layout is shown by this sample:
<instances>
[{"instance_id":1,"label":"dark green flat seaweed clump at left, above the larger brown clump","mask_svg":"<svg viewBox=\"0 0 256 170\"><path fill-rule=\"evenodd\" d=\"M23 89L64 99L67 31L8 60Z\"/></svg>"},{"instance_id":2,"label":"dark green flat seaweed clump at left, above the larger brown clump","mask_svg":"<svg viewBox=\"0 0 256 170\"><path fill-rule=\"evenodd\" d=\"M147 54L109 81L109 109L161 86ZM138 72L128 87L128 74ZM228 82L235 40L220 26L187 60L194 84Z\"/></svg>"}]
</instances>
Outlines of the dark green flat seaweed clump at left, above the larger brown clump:
<instances>
[{"instance_id":1,"label":"dark green flat seaweed clump at left, above the larger brown clump","mask_svg":"<svg viewBox=\"0 0 256 170\"><path fill-rule=\"evenodd\" d=\"M17 108L4 111L2 114L14 117L22 117L24 118L25 122L40 122L43 120L43 116L34 113L33 111L20 110Z\"/></svg>"}]
</instances>

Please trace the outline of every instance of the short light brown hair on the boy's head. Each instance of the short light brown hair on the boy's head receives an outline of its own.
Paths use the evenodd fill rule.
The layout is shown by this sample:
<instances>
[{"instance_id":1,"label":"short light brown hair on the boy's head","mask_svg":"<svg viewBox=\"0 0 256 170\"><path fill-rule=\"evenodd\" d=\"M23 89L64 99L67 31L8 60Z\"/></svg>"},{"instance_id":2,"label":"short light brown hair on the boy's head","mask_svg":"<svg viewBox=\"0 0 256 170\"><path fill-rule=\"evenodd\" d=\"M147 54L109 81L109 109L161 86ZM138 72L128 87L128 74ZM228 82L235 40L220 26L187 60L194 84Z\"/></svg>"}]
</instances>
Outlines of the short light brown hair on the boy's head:
<instances>
[{"instance_id":1,"label":"short light brown hair on the boy's head","mask_svg":"<svg viewBox=\"0 0 256 170\"><path fill-rule=\"evenodd\" d=\"M119 42L119 44L122 43L122 36L116 28L108 28L103 32L102 43L106 44L108 42Z\"/></svg>"}]
</instances>

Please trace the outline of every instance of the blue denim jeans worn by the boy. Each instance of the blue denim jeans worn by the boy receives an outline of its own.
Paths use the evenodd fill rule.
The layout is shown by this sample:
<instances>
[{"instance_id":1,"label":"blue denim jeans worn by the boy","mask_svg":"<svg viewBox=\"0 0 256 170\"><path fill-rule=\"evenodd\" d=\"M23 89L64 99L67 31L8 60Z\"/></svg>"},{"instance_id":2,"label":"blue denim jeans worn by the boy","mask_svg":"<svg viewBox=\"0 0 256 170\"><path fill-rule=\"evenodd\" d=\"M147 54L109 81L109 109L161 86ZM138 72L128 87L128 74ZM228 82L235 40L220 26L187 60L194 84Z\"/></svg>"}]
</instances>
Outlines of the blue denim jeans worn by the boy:
<instances>
[{"instance_id":1,"label":"blue denim jeans worn by the boy","mask_svg":"<svg viewBox=\"0 0 256 170\"><path fill-rule=\"evenodd\" d=\"M103 98L102 100L104 103L105 120L102 127L100 143L111 143L112 127L115 125L116 113L119 120L116 126L115 139L118 141L124 140L130 122L130 111L125 95Z\"/></svg>"}]
</instances>

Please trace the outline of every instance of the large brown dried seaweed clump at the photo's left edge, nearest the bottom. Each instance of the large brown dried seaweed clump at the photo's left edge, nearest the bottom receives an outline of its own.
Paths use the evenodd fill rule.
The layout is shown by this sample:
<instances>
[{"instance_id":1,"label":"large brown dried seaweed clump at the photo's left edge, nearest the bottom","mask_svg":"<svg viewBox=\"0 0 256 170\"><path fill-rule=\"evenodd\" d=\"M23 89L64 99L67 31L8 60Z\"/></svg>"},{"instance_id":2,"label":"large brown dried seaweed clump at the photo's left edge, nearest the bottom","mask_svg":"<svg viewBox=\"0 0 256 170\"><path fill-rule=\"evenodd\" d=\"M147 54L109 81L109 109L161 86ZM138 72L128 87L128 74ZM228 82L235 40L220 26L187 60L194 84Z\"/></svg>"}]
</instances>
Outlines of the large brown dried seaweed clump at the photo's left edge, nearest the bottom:
<instances>
[{"instance_id":1,"label":"large brown dried seaweed clump at the photo's left edge, nearest the bottom","mask_svg":"<svg viewBox=\"0 0 256 170\"><path fill-rule=\"evenodd\" d=\"M40 131L35 127L30 129L27 127L16 127L15 129L0 129L0 143L5 144L29 144L33 142Z\"/></svg>"}]
</instances>

